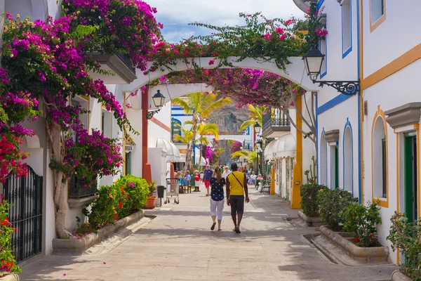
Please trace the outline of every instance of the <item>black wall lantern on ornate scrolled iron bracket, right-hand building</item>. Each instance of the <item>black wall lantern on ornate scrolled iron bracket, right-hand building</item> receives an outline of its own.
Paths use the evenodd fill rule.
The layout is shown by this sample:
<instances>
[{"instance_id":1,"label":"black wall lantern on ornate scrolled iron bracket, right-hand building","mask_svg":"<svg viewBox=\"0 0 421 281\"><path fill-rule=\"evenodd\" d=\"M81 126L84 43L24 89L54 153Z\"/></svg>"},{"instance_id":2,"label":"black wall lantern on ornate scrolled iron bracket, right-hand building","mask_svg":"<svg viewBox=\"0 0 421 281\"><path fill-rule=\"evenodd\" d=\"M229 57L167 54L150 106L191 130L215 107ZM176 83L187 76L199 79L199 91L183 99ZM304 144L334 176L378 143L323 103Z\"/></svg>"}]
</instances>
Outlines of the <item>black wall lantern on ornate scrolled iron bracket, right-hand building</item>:
<instances>
[{"instance_id":1,"label":"black wall lantern on ornate scrolled iron bracket, right-hand building","mask_svg":"<svg viewBox=\"0 0 421 281\"><path fill-rule=\"evenodd\" d=\"M308 51L303 57L305 71L307 75L312 79L313 83L318 83L320 87L324 85L331 86L347 96L354 96L359 94L360 83L359 81L316 81L321 72L321 65L323 64L325 55L323 55L316 46L312 45L310 51Z\"/></svg>"}]
</instances>

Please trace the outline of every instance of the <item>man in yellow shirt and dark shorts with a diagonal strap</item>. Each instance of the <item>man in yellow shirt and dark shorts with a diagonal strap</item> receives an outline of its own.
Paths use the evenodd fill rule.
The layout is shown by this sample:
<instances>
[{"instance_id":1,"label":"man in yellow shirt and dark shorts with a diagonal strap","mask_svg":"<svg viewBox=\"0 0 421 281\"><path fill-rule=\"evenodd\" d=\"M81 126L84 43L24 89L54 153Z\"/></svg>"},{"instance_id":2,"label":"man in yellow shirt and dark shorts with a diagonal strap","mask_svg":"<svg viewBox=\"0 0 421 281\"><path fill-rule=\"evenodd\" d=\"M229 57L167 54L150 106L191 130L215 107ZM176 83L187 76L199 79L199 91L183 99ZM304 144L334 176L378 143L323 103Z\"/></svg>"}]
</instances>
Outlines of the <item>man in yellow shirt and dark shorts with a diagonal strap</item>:
<instances>
[{"instance_id":1,"label":"man in yellow shirt and dark shorts with a diagonal strap","mask_svg":"<svg viewBox=\"0 0 421 281\"><path fill-rule=\"evenodd\" d=\"M246 202L250 202L250 199L248 199L247 178L246 174L238 171L239 167L236 163L231 164L231 169L232 173L227 176L227 204L231 206L234 231L241 233L240 223L244 212L244 193L246 193Z\"/></svg>"}]
</instances>

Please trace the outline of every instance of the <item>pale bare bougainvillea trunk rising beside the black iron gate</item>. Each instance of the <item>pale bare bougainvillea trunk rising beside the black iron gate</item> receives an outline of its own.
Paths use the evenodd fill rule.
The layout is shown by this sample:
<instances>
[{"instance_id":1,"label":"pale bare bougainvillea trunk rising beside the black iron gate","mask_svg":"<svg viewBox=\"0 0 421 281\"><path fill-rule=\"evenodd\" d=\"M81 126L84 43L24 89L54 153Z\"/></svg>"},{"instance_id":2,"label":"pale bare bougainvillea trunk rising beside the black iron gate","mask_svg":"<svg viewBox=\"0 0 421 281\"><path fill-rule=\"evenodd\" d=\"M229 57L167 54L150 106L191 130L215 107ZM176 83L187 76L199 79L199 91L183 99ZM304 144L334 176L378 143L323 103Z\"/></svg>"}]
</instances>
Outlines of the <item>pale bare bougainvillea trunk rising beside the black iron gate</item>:
<instances>
[{"instance_id":1,"label":"pale bare bougainvillea trunk rising beside the black iron gate","mask_svg":"<svg viewBox=\"0 0 421 281\"><path fill-rule=\"evenodd\" d=\"M62 142L61 126L55 122L46 122L48 139L50 142L51 159L62 163L65 158L64 143ZM54 175L54 210L55 210L55 233L58 237L64 238L65 218L67 204L65 200L65 175L62 171L53 171Z\"/></svg>"}]
</instances>

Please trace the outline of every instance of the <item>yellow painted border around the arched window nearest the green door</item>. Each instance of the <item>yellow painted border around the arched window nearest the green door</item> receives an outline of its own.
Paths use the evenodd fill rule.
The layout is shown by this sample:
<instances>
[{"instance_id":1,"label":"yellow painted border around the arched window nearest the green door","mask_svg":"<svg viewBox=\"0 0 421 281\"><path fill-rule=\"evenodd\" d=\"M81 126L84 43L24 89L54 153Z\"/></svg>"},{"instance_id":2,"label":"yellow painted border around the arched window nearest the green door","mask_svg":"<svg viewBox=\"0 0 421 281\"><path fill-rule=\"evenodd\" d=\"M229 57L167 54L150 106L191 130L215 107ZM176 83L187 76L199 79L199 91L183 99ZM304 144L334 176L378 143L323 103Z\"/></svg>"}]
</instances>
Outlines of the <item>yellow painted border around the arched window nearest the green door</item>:
<instances>
[{"instance_id":1,"label":"yellow painted border around the arched window nearest the green door","mask_svg":"<svg viewBox=\"0 0 421 281\"><path fill-rule=\"evenodd\" d=\"M374 197L374 151L373 151L373 133L374 133L374 126L375 122L377 121L377 118L382 118L383 126L385 126L385 138L386 138L386 200L382 200L379 198L380 203L379 205L384 208L389 208L389 150L388 150L388 144L387 141L387 123L386 123L386 116L385 112L380 109L380 105L377 105L377 112L375 112L374 118L373 118L373 124L371 126L371 200L374 202L374 200L377 200L377 198Z\"/></svg>"}]
</instances>

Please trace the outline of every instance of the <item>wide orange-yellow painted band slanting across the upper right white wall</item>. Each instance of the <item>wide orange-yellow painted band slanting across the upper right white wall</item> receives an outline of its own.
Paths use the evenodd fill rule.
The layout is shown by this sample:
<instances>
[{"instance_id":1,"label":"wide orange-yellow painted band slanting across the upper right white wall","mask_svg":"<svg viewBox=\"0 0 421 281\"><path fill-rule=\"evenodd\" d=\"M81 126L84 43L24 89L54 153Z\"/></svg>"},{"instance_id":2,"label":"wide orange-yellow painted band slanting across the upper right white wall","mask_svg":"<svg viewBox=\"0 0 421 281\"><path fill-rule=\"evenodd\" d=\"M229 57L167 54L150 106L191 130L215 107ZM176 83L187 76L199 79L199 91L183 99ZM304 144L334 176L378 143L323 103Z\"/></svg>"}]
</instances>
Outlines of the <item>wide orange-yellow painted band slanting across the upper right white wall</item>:
<instances>
[{"instance_id":1,"label":"wide orange-yellow painted band slanting across the upper right white wall","mask_svg":"<svg viewBox=\"0 0 421 281\"><path fill-rule=\"evenodd\" d=\"M367 89L370 86L382 81L383 79L389 77L390 75L398 72L399 70L407 67L411 63L419 60L421 58L421 44L411 48L408 52L401 55L399 58L396 58L391 63L388 63L384 67L380 68L373 74L370 74L368 77L361 81L361 89Z\"/></svg>"}]
</instances>

